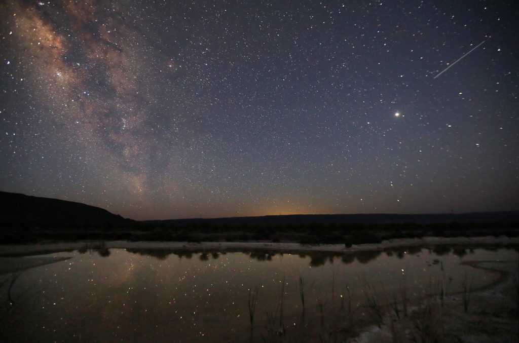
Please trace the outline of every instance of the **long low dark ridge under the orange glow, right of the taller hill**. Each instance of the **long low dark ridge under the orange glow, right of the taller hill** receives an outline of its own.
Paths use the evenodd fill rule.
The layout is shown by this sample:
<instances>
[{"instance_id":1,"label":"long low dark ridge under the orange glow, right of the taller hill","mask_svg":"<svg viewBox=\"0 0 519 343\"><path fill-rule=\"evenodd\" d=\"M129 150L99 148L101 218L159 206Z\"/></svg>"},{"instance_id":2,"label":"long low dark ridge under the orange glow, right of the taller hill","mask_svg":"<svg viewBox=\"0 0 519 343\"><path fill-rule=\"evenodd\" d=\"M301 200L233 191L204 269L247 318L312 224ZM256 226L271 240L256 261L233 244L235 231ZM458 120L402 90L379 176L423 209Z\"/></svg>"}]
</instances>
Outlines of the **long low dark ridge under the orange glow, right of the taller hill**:
<instances>
[{"instance_id":1,"label":"long low dark ridge under the orange glow, right of the taller hill","mask_svg":"<svg viewBox=\"0 0 519 343\"><path fill-rule=\"evenodd\" d=\"M440 214L295 214L267 215L259 217L193 218L145 221L143 224L185 226L191 224L212 224L226 226L265 225L311 225L311 224L433 224L433 223L519 223L519 211L440 213Z\"/></svg>"}]
</instances>

